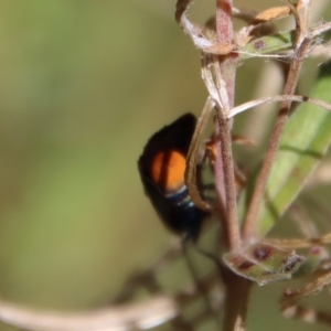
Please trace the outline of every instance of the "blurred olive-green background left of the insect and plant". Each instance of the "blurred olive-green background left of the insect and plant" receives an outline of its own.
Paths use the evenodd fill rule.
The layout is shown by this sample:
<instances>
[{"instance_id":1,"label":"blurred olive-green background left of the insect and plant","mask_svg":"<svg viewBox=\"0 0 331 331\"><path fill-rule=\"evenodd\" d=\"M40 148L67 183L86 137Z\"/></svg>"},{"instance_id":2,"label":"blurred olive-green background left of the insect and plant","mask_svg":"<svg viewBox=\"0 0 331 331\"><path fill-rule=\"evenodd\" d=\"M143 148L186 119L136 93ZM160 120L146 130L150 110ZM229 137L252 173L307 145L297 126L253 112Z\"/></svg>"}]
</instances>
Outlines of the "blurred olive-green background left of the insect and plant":
<instances>
[{"instance_id":1,"label":"blurred olive-green background left of the insect and plant","mask_svg":"<svg viewBox=\"0 0 331 331\"><path fill-rule=\"evenodd\" d=\"M281 4L249 8L270 3ZM190 17L203 22L213 6L197 1ZM143 195L137 159L156 130L202 109L200 53L174 22L174 0L0 9L1 299L95 307L174 241ZM241 68L237 103L261 64Z\"/></svg>"}]
</instances>

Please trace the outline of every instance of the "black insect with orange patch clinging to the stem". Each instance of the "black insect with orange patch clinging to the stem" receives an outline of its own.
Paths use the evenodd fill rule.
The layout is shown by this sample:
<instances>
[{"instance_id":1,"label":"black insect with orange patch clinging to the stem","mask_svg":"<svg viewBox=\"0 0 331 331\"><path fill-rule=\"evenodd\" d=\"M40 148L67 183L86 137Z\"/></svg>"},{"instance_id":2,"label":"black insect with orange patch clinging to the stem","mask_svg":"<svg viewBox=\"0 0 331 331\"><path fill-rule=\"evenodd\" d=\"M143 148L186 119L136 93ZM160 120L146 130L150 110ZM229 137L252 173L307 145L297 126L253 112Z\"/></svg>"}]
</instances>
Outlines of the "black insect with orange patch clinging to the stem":
<instances>
[{"instance_id":1,"label":"black insect with orange patch clinging to the stem","mask_svg":"<svg viewBox=\"0 0 331 331\"><path fill-rule=\"evenodd\" d=\"M148 140L138 160L145 192L163 223L184 241L194 242L207 216L194 205L184 183L185 158L195 124L192 114L181 116Z\"/></svg>"}]
</instances>

